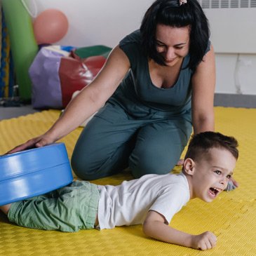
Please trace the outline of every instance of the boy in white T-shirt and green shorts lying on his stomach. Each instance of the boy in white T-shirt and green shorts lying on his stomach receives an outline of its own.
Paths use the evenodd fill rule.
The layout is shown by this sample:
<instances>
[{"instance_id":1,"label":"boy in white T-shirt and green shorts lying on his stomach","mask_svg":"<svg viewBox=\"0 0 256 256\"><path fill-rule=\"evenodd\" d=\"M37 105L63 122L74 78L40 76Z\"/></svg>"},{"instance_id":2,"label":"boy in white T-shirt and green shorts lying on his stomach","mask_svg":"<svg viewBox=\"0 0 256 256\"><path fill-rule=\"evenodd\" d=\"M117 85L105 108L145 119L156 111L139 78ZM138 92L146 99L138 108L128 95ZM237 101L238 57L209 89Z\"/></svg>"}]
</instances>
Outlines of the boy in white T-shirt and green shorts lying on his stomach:
<instances>
[{"instance_id":1,"label":"boy in white T-shirt and green shorts lying on his stomach","mask_svg":"<svg viewBox=\"0 0 256 256\"><path fill-rule=\"evenodd\" d=\"M11 222L34 229L78 231L143 224L147 236L207 250L216 245L213 233L191 235L168 224L190 199L211 202L227 187L238 159L237 147L234 137L200 133L189 142L180 174L149 174L119 186L76 181L0 209Z\"/></svg>"}]
</instances>

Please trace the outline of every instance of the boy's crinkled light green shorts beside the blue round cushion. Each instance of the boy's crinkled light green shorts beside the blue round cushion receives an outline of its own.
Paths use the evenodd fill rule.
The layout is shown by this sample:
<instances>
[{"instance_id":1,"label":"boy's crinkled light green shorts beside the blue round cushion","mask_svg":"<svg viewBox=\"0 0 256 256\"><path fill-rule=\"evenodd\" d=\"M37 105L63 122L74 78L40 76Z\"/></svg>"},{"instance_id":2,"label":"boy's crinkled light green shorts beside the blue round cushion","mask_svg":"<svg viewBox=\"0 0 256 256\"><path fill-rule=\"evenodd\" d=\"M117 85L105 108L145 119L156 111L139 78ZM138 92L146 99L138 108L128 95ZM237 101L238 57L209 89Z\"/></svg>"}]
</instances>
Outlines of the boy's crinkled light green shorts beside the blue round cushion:
<instances>
[{"instance_id":1,"label":"boy's crinkled light green shorts beside the blue round cushion","mask_svg":"<svg viewBox=\"0 0 256 256\"><path fill-rule=\"evenodd\" d=\"M8 219L32 229L65 232L93 229L99 198L97 185L76 181L48 194L12 203Z\"/></svg>"}]
</instances>

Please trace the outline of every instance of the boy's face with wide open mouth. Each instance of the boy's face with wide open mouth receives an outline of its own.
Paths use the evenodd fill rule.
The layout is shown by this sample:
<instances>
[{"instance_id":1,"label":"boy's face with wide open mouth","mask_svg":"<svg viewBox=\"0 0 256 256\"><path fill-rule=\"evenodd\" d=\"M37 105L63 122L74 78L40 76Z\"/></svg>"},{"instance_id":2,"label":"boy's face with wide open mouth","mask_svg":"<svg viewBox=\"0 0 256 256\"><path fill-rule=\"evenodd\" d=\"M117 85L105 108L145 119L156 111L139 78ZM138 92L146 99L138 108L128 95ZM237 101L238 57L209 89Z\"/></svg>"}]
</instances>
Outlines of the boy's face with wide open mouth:
<instances>
[{"instance_id":1,"label":"boy's face with wide open mouth","mask_svg":"<svg viewBox=\"0 0 256 256\"><path fill-rule=\"evenodd\" d=\"M213 201L227 187L235 166L236 159L227 149L213 148L203 154L201 160L194 161L191 198Z\"/></svg>"}]
</instances>

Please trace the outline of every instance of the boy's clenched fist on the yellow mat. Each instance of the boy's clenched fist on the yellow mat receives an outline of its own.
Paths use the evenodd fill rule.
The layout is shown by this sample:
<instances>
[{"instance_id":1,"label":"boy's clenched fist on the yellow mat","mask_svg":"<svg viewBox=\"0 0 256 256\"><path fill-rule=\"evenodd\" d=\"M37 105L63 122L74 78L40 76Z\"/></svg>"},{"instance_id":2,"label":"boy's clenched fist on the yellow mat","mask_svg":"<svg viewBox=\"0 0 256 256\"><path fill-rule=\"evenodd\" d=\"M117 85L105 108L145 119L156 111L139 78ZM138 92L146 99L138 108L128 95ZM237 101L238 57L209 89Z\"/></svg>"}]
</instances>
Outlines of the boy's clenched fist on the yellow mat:
<instances>
[{"instance_id":1,"label":"boy's clenched fist on the yellow mat","mask_svg":"<svg viewBox=\"0 0 256 256\"><path fill-rule=\"evenodd\" d=\"M192 237L191 248L208 250L215 247L217 237L210 231L206 231L203 234Z\"/></svg>"}]
</instances>

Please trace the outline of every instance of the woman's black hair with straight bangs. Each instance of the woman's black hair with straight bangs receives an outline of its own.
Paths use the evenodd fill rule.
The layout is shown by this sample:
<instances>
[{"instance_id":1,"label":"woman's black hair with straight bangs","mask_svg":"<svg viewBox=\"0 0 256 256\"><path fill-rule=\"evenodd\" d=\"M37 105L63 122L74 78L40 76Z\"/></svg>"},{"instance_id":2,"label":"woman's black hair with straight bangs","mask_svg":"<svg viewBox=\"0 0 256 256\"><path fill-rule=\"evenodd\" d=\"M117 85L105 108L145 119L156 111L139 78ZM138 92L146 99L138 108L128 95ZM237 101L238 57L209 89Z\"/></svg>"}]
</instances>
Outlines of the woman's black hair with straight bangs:
<instances>
[{"instance_id":1,"label":"woman's black hair with straight bangs","mask_svg":"<svg viewBox=\"0 0 256 256\"><path fill-rule=\"evenodd\" d=\"M180 6L179 0L156 0L144 15L140 26L142 46L146 55L159 65L165 65L163 57L156 50L156 25L171 27L190 26L190 60L188 67L196 69L203 60L208 46L210 31L208 20L197 0L187 0Z\"/></svg>"}]
</instances>

